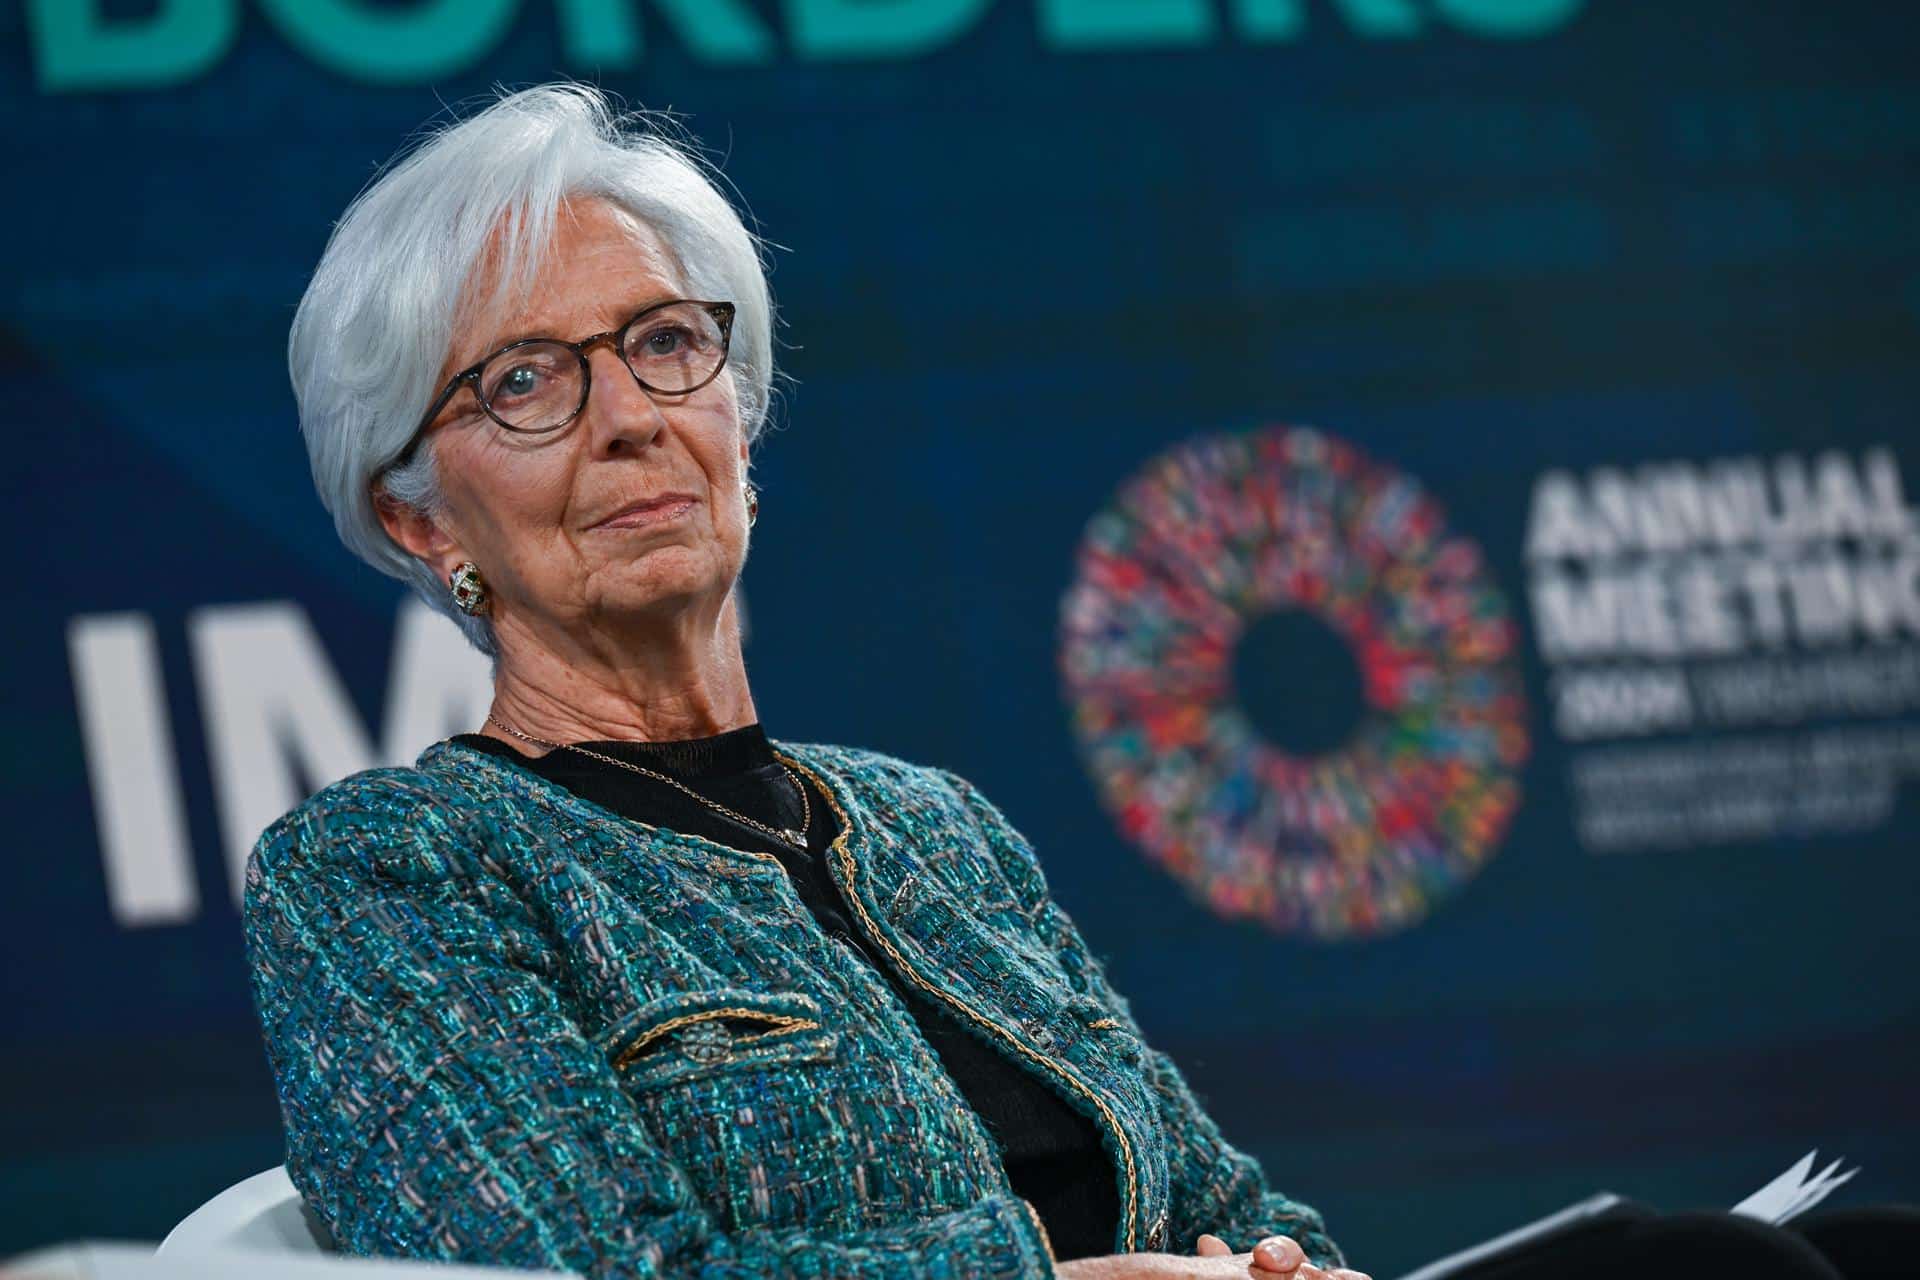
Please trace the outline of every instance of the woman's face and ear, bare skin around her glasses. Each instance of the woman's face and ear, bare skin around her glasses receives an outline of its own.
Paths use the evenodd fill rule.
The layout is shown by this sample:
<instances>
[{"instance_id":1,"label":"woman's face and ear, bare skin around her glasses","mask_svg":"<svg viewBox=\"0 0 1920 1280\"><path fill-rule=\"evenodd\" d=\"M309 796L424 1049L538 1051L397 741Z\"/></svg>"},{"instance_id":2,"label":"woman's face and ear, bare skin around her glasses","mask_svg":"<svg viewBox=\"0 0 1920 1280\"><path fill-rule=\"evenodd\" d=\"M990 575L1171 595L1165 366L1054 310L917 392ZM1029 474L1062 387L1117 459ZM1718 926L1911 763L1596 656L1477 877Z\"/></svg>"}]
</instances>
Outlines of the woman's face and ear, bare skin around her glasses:
<instances>
[{"instance_id":1,"label":"woman's face and ear, bare skin around her glasses","mask_svg":"<svg viewBox=\"0 0 1920 1280\"><path fill-rule=\"evenodd\" d=\"M578 342L666 297L685 286L660 238L616 205L574 200L526 305L455 334L438 386L518 338ZM586 409L543 436L507 432L470 390L455 393L428 436L445 509L426 522L380 505L388 532L442 581L461 560L480 568L503 647L522 628L591 645L595 629L649 616L716 616L745 562L747 441L732 378L653 397L612 344L588 361ZM685 499L678 514L607 524L668 493Z\"/></svg>"}]
</instances>

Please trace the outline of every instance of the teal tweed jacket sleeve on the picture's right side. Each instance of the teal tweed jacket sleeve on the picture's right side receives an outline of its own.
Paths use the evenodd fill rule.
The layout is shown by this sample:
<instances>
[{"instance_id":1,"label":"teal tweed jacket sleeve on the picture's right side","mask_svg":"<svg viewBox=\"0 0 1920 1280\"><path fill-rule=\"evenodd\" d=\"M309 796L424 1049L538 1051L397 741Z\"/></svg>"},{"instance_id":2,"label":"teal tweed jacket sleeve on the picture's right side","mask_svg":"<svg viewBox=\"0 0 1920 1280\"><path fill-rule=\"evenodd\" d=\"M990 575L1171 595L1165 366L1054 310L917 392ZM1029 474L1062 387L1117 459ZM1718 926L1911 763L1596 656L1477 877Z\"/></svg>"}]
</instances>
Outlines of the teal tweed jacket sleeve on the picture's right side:
<instances>
[{"instance_id":1,"label":"teal tweed jacket sleeve on the picture's right side","mask_svg":"<svg viewBox=\"0 0 1920 1280\"><path fill-rule=\"evenodd\" d=\"M1267 1186L1252 1155L1225 1140L1173 1059L1146 1044L1125 996L1114 990L1106 967L1087 946L1073 919L1052 900L1033 844L1006 816L958 773L941 770L981 823L1039 936L1087 994L1098 998L1127 1031L1140 1036L1142 1067L1160 1094L1160 1119L1167 1132L1167 1174L1173 1203L1167 1215L1167 1251L1192 1253L1200 1232L1225 1240L1236 1253L1265 1236L1292 1236L1317 1267L1344 1267L1346 1255L1327 1234L1319 1211Z\"/></svg>"}]
</instances>

